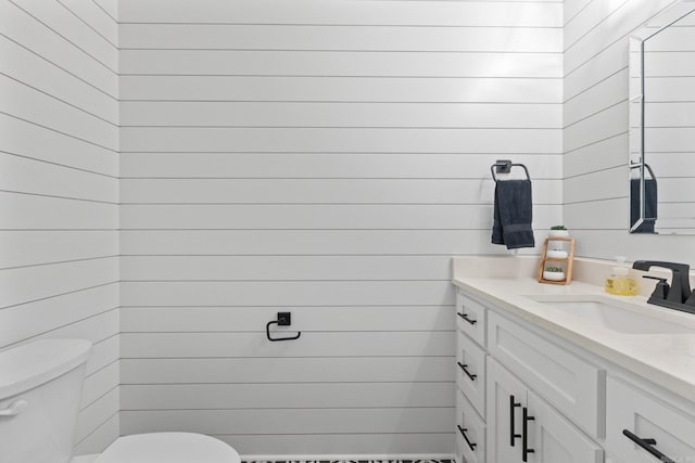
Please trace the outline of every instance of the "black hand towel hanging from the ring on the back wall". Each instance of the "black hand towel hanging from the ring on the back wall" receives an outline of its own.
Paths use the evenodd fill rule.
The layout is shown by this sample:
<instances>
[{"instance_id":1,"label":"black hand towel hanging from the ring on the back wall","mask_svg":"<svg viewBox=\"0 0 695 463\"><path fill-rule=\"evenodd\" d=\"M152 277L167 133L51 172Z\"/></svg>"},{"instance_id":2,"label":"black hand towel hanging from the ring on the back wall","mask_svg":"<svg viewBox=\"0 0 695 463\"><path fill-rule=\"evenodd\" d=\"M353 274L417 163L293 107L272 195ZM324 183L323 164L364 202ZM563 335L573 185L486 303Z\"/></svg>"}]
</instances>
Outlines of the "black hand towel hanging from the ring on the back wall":
<instances>
[{"instance_id":1,"label":"black hand towel hanging from the ring on the back wall","mask_svg":"<svg viewBox=\"0 0 695 463\"><path fill-rule=\"evenodd\" d=\"M492 242L507 249L534 247L531 180L504 180L495 187Z\"/></svg>"}]
</instances>

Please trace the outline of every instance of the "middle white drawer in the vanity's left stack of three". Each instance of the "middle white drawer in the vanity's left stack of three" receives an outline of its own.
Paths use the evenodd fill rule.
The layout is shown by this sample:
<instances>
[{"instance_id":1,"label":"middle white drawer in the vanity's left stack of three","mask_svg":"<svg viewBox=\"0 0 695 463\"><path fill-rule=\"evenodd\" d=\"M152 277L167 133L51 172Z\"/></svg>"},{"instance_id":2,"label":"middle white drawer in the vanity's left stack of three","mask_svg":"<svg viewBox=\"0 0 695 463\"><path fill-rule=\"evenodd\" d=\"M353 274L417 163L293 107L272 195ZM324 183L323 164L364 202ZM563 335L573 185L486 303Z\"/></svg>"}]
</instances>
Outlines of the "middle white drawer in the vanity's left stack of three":
<instances>
[{"instance_id":1,"label":"middle white drawer in the vanity's left stack of three","mask_svg":"<svg viewBox=\"0 0 695 463\"><path fill-rule=\"evenodd\" d=\"M481 416L485 415L485 351L460 330L456 344L456 384Z\"/></svg>"}]
</instances>

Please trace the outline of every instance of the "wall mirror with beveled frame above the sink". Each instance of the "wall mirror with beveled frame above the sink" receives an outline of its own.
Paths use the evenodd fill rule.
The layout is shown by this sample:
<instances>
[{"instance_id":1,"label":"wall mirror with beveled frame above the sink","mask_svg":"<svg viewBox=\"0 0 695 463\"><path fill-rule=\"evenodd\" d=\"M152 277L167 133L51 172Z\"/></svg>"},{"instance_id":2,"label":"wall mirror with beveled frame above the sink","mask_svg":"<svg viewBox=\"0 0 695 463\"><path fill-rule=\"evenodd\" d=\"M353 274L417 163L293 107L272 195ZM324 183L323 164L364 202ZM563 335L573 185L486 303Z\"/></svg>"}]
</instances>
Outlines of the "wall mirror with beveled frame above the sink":
<instances>
[{"instance_id":1,"label":"wall mirror with beveled frame above the sink","mask_svg":"<svg viewBox=\"0 0 695 463\"><path fill-rule=\"evenodd\" d=\"M695 0L630 39L630 232L695 234Z\"/></svg>"}]
</instances>

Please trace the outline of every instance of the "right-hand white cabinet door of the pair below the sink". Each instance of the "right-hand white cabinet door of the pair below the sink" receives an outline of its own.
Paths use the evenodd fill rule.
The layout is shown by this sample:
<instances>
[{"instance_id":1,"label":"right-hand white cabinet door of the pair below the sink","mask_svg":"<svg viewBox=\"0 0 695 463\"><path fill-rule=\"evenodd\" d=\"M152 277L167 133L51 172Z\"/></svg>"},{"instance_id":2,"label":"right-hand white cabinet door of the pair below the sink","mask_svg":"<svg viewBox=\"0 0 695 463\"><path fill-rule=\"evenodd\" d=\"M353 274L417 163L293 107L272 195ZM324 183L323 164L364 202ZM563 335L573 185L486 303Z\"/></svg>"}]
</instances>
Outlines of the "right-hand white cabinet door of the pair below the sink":
<instances>
[{"instance_id":1,"label":"right-hand white cabinet door of the pair below the sink","mask_svg":"<svg viewBox=\"0 0 695 463\"><path fill-rule=\"evenodd\" d=\"M604 451L601 447L532 390L528 394L527 402L526 439L529 450L533 450L532 453L527 453L529 462L601 463L604 461ZM521 414L523 419L523 411Z\"/></svg>"}]
</instances>

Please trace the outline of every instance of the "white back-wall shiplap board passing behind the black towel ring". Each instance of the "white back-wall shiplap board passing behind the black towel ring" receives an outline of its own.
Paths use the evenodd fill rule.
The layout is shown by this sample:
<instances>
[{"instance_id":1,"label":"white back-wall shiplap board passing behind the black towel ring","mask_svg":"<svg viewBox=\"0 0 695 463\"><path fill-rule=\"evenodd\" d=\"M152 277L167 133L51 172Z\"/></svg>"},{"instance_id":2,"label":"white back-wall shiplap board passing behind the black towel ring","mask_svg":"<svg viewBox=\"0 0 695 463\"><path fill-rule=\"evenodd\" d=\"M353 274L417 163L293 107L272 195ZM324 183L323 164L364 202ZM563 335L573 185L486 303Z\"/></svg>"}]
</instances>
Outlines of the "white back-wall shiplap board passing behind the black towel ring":
<instances>
[{"instance_id":1,"label":"white back-wall shiplap board passing behind the black towel ring","mask_svg":"<svg viewBox=\"0 0 695 463\"><path fill-rule=\"evenodd\" d=\"M340 146L333 146L339 149ZM459 147L459 153L465 151ZM122 195L131 203L128 187L146 194L146 185L128 178L174 179L470 179L478 180L479 197L491 198L494 183L490 165L497 154L445 153L124 153ZM533 179L561 179L561 157L538 154L523 157ZM516 172L515 172L516 175ZM215 184L214 182L211 184ZM306 183L314 184L313 182ZM340 183L337 183L340 185ZM260 183L260 189L264 183ZM430 185L431 187L431 185ZM154 182L151 190L165 188ZM202 188L198 184L197 188ZM207 187L211 188L211 187ZM440 187L441 188L441 187ZM149 192L149 194L155 194ZM261 192L257 192L261 194ZM268 193L266 193L268 194ZM538 196L536 196L538 198Z\"/></svg>"}]
</instances>

